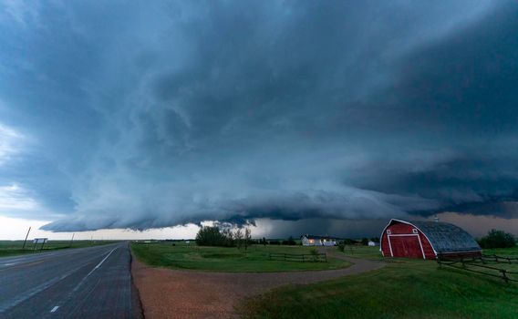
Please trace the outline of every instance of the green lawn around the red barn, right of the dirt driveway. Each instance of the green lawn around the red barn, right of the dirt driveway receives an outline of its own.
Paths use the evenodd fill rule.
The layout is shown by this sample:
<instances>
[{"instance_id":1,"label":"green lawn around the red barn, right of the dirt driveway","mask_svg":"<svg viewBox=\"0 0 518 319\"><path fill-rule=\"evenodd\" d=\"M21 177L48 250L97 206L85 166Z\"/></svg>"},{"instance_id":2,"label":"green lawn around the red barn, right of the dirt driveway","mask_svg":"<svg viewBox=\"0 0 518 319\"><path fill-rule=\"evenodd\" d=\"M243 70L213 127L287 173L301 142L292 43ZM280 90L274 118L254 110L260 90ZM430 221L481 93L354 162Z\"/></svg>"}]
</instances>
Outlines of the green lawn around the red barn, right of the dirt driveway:
<instances>
[{"instance_id":1,"label":"green lawn around the red barn, right of the dirt driveway","mask_svg":"<svg viewBox=\"0 0 518 319\"><path fill-rule=\"evenodd\" d=\"M351 255L378 259L376 249L358 247ZM518 318L518 283L432 261L389 261L370 273L276 289L238 310L247 318Z\"/></svg>"}]
</instances>

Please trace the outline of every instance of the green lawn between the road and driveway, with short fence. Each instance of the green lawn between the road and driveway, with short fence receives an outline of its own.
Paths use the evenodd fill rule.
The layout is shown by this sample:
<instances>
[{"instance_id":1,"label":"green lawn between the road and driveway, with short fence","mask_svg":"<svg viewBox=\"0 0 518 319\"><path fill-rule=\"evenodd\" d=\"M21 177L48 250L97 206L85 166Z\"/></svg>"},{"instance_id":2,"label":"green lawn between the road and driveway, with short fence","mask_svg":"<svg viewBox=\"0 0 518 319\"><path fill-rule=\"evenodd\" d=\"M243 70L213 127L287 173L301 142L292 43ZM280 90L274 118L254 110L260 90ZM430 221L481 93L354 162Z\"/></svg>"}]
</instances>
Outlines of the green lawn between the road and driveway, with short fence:
<instances>
[{"instance_id":1,"label":"green lawn between the road and driveway, with short fence","mask_svg":"<svg viewBox=\"0 0 518 319\"><path fill-rule=\"evenodd\" d=\"M303 246L252 245L248 250L223 247L199 247L176 242L132 242L131 250L140 262L174 269L229 273L269 273L344 268L350 264L328 258L328 262L271 261L270 252L310 253Z\"/></svg>"}]
</instances>

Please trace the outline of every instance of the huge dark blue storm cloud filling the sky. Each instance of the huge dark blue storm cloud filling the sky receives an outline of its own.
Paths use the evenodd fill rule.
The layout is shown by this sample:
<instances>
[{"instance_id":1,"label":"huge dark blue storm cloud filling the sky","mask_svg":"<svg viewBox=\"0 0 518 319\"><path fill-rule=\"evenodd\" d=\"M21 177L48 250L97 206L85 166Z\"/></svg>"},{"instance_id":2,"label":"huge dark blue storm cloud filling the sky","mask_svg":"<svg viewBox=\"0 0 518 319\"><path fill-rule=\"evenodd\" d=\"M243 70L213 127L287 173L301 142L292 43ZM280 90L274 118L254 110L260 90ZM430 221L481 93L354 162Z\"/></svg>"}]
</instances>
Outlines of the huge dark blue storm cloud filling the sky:
<instances>
[{"instance_id":1,"label":"huge dark blue storm cloud filling the sky","mask_svg":"<svg viewBox=\"0 0 518 319\"><path fill-rule=\"evenodd\" d=\"M517 13L482 1L5 3L0 117L34 141L0 166L0 186L59 214L44 227L57 232L515 218Z\"/></svg>"}]
</instances>

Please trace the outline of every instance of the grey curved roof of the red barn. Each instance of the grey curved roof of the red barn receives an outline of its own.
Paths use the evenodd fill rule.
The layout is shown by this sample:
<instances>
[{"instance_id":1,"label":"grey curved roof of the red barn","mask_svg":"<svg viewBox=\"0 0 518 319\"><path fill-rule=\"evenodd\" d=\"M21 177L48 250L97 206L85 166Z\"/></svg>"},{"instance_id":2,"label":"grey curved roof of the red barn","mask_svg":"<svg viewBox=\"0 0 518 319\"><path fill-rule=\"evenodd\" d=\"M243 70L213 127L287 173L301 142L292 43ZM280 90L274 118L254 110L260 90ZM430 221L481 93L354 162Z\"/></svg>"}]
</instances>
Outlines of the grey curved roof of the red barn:
<instances>
[{"instance_id":1,"label":"grey curved roof of the red barn","mask_svg":"<svg viewBox=\"0 0 518 319\"><path fill-rule=\"evenodd\" d=\"M399 220L392 220L399 221ZM393 222L390 221L390 224ZM471 235L449 222L442 221L399 221L414 225L430 241L437 253L444 252L473 252L480 251L481 247Z\"/></svg>"}]
</instances>

